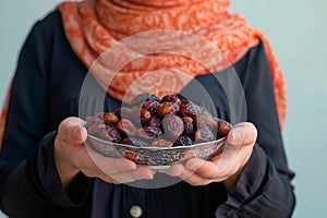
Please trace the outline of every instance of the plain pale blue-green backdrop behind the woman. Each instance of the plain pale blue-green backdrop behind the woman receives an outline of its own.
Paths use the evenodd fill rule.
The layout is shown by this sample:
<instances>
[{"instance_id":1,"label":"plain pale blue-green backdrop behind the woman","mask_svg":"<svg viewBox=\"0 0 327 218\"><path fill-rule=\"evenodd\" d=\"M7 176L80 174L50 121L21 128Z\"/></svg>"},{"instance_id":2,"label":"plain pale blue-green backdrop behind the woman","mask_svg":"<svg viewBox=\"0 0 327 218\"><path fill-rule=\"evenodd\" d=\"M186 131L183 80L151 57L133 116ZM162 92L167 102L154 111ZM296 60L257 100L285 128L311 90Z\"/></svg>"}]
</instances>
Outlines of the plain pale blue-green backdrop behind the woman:
<instances>
[{"instance_id":1,"label":"plain pale blue-green backdrop behind the woman","mask_svg":"<svg viewBox=\"0 0 327 218\"><path fill-rule=\"evenodd\" d=\"M0 8L0 105L32 25L59 0L2 0ZM234 0L252 26L270 39L287 82L287 156L296 177L295 218L327 214L327 1ZM1 187L0 187L1 189ZM277 191L278 192L278 191ZM0 217L5 217L0 214Z\"/></svg>"}]
</instances>

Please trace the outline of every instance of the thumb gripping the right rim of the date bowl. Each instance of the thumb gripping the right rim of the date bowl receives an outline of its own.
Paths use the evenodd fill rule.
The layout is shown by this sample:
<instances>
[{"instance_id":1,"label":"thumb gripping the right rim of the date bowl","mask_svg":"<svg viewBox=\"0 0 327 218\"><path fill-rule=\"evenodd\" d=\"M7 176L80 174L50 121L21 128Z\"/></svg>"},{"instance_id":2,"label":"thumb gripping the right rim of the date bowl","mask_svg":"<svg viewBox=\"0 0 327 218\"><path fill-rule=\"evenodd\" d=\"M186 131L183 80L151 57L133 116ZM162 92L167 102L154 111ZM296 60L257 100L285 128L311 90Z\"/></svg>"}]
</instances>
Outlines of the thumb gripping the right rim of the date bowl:
<instances>
[{"instance_id":1,"label":"thumb gripping the right rim of the date bowl","mask_svg":"<svg viewBox=\"0 0 327 218\"><path fill-rule=\"evenodd\" d=\"M227 143L230 145L253 145L257 137L257 130L254 124L243 122L234 125L229 132Z\"/></svg>"}]
</instances>

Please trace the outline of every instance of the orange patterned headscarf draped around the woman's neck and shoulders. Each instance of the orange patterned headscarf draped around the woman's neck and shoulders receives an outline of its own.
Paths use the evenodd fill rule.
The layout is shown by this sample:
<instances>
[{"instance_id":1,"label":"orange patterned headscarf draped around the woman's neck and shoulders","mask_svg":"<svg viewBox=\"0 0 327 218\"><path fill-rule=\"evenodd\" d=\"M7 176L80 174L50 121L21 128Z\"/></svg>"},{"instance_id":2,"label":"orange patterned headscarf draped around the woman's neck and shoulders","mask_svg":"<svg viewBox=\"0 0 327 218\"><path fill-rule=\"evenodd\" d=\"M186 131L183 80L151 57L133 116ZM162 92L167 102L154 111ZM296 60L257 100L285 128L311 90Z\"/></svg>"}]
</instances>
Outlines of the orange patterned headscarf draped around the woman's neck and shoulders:
<instances>
[{"instance_id":1,"label":"orange patterned headscarf draped around the woman's neck and shoulders","mask_svg":"<svg viewBox=\"0 0 327 218\"><path fill-rule=\"evenodd\" d=\"M132 47L119 44L129 36L159 29L181 31L199 36L219 49L227 60L215 59L211 64L216 71L235 63L262 40L271 71L282 126L287 108L284 81L271 46L261 32L247 25L242 15L231 14L229 7L230 0L84 0L63 2L58 5L58 10L62 14L66 38L76 56L92 69L95 80L120 100L129 100L145 92L165 95L167 93L160 92L162 87L178 93L194 76L209 73L206 68L187 57L161 52L146 53L140 58L141 50L152 50L150 47L158 46L159 41L178 47L178 36L167 38L155 35L156 37L137 40ZM123 56L101 56L112 45L120 45L118 50L122 50L120 53L123 56L132 53L131 57L134 57L119 72L113 70L117 68L114 64ZM194 51L206 52L192 43L187 44L189 47ZM144 77L150 80L140 80Z\"/></svg>"}]
</instances>

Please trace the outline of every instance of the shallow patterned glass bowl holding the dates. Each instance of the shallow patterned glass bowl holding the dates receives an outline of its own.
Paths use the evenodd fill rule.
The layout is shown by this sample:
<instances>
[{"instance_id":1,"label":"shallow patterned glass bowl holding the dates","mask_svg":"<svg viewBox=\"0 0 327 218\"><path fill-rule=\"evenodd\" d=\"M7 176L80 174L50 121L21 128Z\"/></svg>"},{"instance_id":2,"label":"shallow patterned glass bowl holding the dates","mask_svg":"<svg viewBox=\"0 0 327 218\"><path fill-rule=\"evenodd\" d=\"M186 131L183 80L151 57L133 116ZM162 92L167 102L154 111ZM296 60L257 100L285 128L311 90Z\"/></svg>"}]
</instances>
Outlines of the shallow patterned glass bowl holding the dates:
<instances>
[{"instance_id":1,"label":"shallow patterned glass bowl holding the dates","mask_svg":"<svg viewBox=\"0 0 327 218\"><path fill-rule=\"evenodd\" d=\"M225 141L226 137L190 146L136 147L88 135L85 144L106 157L124 157L141 166L148 166L153 169L168 169L174 164L183 164L193 157L210 159L222 152Z\"/></svg>"}]
</instances>

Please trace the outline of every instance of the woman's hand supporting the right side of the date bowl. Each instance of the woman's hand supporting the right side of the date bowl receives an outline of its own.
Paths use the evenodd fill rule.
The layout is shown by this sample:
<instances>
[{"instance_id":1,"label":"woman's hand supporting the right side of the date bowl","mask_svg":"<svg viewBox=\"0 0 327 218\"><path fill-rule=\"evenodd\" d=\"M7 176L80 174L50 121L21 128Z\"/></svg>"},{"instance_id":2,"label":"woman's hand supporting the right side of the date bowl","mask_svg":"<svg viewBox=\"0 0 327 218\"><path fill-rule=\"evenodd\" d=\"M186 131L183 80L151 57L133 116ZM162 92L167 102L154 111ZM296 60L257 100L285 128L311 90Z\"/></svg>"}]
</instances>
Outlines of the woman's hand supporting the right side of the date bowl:
<instances>
[{"instance_id":1,"label":"woman's hand supporting the right side of the date bowl","mask_svg":"<svg viewBox=\"0 0 327 218\"><path fill-rule=\"evenodd\" d=\"M230 191L237 185L250 159L256 137L257 131L252 123L239 123L228 134L226 147L220 155L209 161L192 158L185 165L174 165L161 172L180 177L192 185L223 182L226 189Z\"/></svg>"}]
</instances>

